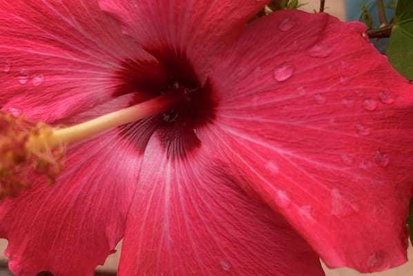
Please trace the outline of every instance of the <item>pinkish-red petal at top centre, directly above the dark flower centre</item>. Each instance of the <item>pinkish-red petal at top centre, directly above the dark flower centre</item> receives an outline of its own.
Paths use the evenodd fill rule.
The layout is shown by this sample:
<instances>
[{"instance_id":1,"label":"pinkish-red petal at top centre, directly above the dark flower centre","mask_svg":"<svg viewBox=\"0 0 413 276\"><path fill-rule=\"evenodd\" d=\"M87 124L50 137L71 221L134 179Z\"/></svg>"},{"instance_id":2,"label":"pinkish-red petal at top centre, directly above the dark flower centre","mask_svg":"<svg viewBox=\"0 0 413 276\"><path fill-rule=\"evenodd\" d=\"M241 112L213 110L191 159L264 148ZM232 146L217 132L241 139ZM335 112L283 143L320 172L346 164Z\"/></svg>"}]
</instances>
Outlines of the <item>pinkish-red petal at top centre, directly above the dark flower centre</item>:
<instances>
[{"instance_id":1,"label":"pinkish-red petal at top centre, directly above the dark flower centre","mask_svg":"<svg viewBox=\"0 0 413 276\"><path fill-rule=\"evenodd\" d=\"M191 63L204 81L213 57L232 43L253 14L268 1L98 0L121 23L125 34L163 63ZM167 52L167 53L166 53ZM171 60L177 56L180 61ZM180 70L180 68L175 68Z\"/></svg>"}]
</instances>

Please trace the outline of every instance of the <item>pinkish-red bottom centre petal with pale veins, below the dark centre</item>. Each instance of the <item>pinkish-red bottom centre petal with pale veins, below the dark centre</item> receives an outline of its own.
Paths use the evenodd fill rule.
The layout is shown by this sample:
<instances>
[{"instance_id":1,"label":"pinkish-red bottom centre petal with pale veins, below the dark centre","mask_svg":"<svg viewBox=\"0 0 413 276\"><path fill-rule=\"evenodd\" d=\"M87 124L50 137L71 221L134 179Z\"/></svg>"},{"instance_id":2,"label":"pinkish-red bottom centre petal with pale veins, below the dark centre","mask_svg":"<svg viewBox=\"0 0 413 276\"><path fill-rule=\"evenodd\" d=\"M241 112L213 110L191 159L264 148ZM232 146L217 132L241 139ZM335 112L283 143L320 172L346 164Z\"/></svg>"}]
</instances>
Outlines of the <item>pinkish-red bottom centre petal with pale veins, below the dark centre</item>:
<instances>
[{"instance_id":1,"label":"pinkish-red bottom centre petal with pale veins, below the dark centre","mask_svg":"<svg viewBox=\"0 0 413 276\"><path fill-rule=\"evenodd\" d=\"M118 275L324 275L302 238L247 197L213 151L172 160L149 141Z\"/></svg>"}]
</instances>

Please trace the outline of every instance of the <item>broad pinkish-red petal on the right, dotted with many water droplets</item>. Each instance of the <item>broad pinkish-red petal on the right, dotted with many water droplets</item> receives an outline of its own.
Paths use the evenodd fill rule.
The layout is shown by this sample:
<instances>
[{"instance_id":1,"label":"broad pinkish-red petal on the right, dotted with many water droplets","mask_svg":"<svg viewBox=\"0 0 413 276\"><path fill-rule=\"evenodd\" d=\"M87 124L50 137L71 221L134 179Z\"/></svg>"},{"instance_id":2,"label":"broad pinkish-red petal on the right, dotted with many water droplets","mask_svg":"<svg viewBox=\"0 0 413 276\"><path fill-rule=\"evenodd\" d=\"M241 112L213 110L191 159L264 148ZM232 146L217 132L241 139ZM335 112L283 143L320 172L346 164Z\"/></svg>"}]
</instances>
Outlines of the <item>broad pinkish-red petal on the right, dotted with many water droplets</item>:
<instances>
[{"instance_id":1,"label":"broad pinkish-red petal on the right, dotted with many water droplets","mask_svg":"<svg viewBox=\"0 0 413 276\"><path fill-rule=\"evenodd\" d=\"M367 272L406 260L413 86L364 30L276 12L247 27L211 83L218 150L329 266Z\"/></svg>"}]
</instances>

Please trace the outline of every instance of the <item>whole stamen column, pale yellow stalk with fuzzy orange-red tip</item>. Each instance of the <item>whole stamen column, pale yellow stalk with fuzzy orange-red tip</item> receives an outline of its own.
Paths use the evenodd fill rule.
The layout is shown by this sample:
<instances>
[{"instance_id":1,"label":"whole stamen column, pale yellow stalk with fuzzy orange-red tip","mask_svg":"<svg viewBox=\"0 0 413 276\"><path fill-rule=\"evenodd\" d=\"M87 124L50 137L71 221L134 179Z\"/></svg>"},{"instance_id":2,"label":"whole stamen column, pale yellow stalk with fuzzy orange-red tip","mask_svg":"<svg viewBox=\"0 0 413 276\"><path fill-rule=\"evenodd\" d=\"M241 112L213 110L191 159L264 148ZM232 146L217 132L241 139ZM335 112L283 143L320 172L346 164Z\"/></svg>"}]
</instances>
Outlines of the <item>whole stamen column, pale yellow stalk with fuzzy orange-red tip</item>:
<instances>
[{"instance_id":1,"label":"whole stamen column, pale yellow stalk with fuzzy orange-red tip","mask_svg":"<svg viewBox=\"0 0 413 276\"><path fill-rule=\"evenodd\" d=\"M68 128L32 124L24 117L0 112L0 199L31 187L30 168L54 184L64 169L66 146L170 110L184 97L182 91L175 90Z\"/></svg>"}]
</instances>

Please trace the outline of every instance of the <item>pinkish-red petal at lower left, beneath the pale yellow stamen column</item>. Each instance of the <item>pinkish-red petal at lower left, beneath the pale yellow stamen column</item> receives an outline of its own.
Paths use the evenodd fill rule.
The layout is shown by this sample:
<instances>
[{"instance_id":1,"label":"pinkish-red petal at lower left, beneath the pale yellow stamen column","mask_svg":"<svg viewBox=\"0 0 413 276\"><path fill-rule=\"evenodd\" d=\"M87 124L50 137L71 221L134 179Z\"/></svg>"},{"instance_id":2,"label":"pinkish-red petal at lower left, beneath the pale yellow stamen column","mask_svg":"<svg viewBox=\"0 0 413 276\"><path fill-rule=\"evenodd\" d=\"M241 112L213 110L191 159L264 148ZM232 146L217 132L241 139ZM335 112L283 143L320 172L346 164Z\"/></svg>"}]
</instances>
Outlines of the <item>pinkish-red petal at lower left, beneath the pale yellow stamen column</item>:
<instances>
[{"instance_id":1,"label":"pinkish-red petal at lower left, beneath the pale yellow stamen column","mask_svg":"<svg viewBox=\"0 0 413 276\"><path fill-rule=\"evenodd\" d=\"M129 101L113 100L95 108L95 115ZM55 186L32 175L31 190L0 201L0 237L9 241L6 255L15 275L42 270L55 276L93 275L124 235L141 161L136 146L144 144L131 146L119 130L112 130L69 148L66 170Z\"/></svg>"}]
</instances>

